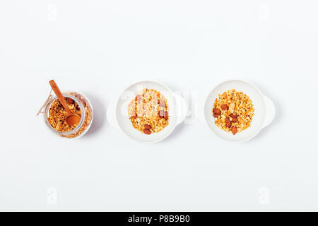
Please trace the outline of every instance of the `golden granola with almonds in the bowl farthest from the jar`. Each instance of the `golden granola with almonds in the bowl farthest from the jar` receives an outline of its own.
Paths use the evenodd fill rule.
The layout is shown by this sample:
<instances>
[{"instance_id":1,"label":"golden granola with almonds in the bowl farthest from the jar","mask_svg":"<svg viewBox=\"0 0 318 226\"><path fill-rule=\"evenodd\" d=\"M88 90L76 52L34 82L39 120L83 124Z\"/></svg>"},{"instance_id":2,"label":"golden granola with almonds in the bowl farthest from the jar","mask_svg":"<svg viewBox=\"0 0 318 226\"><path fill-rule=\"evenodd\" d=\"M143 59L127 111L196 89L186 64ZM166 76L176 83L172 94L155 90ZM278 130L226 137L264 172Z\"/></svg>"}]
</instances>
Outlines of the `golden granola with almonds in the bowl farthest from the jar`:
<instances>
[{"instance_id":1,"label":"golden granola with almonds in the bowl farthest from the jar","mask_svg":"<svg viewBox=\"0 0 318 226\"><path fill-rule=\"evenodd\" d=\"M235 135L251 126L254 107L245 93L228 90L218 95L212 113L216 126Z\"/></svg>"}]
</instances>

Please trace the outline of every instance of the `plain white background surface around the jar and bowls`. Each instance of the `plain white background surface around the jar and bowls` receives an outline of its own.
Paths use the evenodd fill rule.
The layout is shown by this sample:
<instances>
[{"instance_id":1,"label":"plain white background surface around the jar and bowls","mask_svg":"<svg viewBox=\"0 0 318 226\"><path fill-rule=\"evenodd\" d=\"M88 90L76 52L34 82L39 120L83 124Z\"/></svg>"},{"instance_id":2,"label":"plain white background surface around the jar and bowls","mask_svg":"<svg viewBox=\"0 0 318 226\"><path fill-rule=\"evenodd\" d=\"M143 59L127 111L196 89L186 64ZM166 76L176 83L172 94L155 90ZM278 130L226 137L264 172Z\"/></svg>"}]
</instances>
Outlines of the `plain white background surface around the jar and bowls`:
<instances>
[{"instance_id":1,"label":"plain white background surface around the jar and bowls","mask_svg":"<svg viewBox=\"0 0 318 226\"><path fill-rule=\"evenodd\" d=\"M317 8L1 1L0 210L318 210ZM35 116L52 78L93 104L81 139L54 136ZM276 105L273 124L252 141L222 141L190 120L145 145L107 122L107 105L136 81L201 100L231 78Z\"/></svg>"}]
</instances>

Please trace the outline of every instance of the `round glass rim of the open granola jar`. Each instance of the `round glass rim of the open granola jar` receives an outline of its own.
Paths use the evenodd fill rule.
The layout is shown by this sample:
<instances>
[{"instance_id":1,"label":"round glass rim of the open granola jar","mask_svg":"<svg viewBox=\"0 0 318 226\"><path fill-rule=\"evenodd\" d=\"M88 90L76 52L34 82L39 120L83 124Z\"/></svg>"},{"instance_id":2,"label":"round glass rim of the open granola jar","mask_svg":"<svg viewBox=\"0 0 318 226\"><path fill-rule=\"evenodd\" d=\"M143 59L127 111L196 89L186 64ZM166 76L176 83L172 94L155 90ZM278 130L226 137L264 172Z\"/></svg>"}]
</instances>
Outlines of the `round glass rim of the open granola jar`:
<instances>
[{"instance_id":1,"label":"round glass rim of the open granola jar","mask_svg":"<svg viewBox=\"0 0 318 226\"><path fill-rule=\"evenodd\" d=\"M73 133L76 133L79 129L81 129L81 127L83 126L83 123L85 121L85 118L86 118L86 113L85 113L85 107L83 106L81 100L79 100L77 97L75 97L73 95L64 94L64 93L62 93L62 95L63 95L63 97L71 98L72 100L74 100L78 104L78 107L80 107L80 109L81 109L81 120L78 123L78 125L73 130L71 130L69 132L60 132L60 131L57 131L56 129L54 129L53 126L49 123L49 120L48 120L49 108L51 107L52 102L54 102L55 100L59 99L56 95L54 95L51 98L51 100L49 100L49 102L47 102L47 105L45 106L44 117L45 117L45 122L46 122L47 126L49 126L50 129L52 129L54 132L58 133L59 135L68 136L68 135L71 135Z\"/></svg>"}]
</instances>

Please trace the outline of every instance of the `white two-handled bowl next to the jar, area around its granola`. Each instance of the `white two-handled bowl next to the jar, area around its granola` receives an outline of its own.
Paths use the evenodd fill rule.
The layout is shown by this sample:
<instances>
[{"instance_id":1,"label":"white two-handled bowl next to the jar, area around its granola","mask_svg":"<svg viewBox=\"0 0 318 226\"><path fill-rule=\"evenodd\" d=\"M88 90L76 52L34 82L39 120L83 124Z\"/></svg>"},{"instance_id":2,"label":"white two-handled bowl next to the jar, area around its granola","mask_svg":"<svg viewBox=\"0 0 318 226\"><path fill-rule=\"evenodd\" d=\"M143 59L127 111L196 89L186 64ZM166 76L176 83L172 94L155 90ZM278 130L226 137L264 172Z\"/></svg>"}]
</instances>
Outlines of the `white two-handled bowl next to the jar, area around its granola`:
<instances>
[{"instance_id":1,"label":"white two-handled bowl next to the jar, area around its granola","mask_svg":"<svg viewBox=\"0 0 318 226\"><path fill-rule=\"evenodd\" d=\"M162 131L152 133L151 135L146 135L141 131L134 129L128 116L129 102L131 102L131 100L136 97L137 92L143 90L143 88L154 89L162 93L167 99L167 105L170 108L169 124ZM145 143L162 141L172 133L178 124L184 121L186 116L187 105L184 99L181 96L172 93L165 85L153 81L142 81L129 86L129 88L126 88L124 93L120 95L118 100L114 100L107 108L107 119L112 126L120 129L130 138Z\"/></svg>"}]
</instances>

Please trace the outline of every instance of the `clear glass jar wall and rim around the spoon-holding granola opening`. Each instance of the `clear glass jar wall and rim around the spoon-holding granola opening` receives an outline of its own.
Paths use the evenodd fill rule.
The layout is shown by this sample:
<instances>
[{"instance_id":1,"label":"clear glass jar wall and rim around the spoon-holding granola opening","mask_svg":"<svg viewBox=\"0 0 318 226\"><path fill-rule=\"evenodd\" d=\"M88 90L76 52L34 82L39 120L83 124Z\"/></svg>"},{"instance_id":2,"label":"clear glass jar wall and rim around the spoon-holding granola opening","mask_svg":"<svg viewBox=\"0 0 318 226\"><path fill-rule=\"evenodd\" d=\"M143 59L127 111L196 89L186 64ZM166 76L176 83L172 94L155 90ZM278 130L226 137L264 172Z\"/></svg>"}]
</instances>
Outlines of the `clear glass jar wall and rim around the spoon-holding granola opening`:
<instances>
[{"instance_id":1,"label":"clear glass jar wall and rim around the spoon-holding granola opening","mask_svg":"<svg viewBox=\"0 0 318 226\"><path fill-rule=\"evenodd\" d=\"M51 98L49 98L49 100L47 100L47 104L44 107L45 122L49 129L54 131L54 133L57 133L57 135L59 136L66 138L80 138L88 131L88 129L90 129L90 125L93 122L93 107L90 104L88 98L85 95L83 95L83 93L66 92L63 93L63 96L65 98L70 98L71 100L77 103L79 109L81 109L81 121L71 131L61 132L57 131L57 129L54 129L54 127L49 123L49 109L51 108L52 103L58 98L57 96L52 96Z\"/></svg>"}]
</instances>

